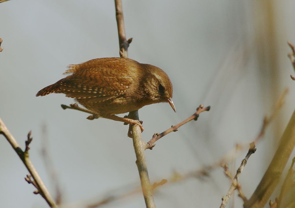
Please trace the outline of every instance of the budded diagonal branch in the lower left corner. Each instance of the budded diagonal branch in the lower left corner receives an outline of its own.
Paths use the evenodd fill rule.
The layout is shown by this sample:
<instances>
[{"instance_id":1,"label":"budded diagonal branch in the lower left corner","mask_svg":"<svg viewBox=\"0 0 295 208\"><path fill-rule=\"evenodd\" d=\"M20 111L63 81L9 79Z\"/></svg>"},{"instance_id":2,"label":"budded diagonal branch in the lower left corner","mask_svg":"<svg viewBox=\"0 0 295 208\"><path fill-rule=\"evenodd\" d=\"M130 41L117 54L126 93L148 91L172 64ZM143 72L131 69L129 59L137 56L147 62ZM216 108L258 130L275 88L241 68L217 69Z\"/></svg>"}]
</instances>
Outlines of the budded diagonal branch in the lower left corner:
<instances>
[{"instance_id":1,"label":"budded diagonal branch in the lower left corner","mask_svg":"<svg viewBox=\"0 0 295 208\"><path fill-rule=\"evenodd\" d=\"M39 174L37 173L35 167L33 166L29 158L29 149L30 149L29 145L30 145L30 142L32 141L32 138L30 137L31 133L29 132L28 134L25 151L22 151L22 149L19 147L19 144L14 139L14 137L9 132L9 130L6 128L5 124L3 123L1 119L0 119L0 134L4 135L4 137L7 139L7 141L10 143L12 148L15 150L19 158L22 160L22 162L26 166L27 170L30 172L30 175L32 176L35 182L35 184L34 183L32 184L37 188L40 195L46 200L47 204L50 207L56 208L56 204L53 198L51 197L50 193L48 192L47 188L45 187L44 183L42 182ZM29 178L29 176L27 176L27 178Z\"/></svg>"}]
</instances>

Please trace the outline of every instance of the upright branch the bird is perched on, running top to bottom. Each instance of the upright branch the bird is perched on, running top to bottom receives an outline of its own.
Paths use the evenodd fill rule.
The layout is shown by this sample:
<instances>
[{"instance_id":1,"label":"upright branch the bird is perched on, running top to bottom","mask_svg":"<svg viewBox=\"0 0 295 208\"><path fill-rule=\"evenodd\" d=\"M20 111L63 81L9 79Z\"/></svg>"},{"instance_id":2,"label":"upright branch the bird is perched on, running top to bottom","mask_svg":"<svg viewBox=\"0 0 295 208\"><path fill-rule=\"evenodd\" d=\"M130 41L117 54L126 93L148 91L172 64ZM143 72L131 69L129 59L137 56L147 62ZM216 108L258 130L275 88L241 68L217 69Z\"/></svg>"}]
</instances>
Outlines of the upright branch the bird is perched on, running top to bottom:
<instances>
[{"instance_id":1,"label":"upright branch the bird is perched on, running top to bottom","mask_svg":"<svg viewBox=\"0 0 295 208\"><path fill-rule=\"evenodd\" d=\"M120 56L128 57L128 47L132 41L132 38L126 40L125 34L125 26L124 26L124 17L123 17L123 9L122 9L122 1L115 0L116 7L116 20L118 27L118 35L119 35L119 48L120 48ZM130 112L129 117L132 119L139 120L138 111ZM137 125L132 126L132 140L134 151L136 155L136 165L139 172L142 194L145 198L145 204L147 208L154 208L155 202L153 197L153 189L150 184L150 179L148 177L148 168L145 160L145 145L146 143L142 140L140 127Z\"/></svg>"}]
</instances>

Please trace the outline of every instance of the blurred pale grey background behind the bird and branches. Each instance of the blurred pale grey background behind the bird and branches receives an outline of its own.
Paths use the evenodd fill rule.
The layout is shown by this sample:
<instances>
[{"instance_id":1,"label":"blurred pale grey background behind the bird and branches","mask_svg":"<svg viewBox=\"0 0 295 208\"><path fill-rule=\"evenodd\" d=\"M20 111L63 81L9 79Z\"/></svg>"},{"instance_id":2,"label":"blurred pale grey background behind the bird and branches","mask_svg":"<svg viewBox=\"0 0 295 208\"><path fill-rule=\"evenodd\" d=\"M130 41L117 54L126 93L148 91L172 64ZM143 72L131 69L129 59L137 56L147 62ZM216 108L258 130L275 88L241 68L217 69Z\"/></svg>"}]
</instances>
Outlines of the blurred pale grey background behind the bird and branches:
<instances>
[{"instance_id":1,"label":"blurred pale grey background behind the bird and branches","mask_svg":"<svg viewBox=\"0 0 295 208\"><path fill-rule=\"evenodd\" d=\"M294 70L287 41L295 43L295 1L123 0L128 55L162 68L173 83L177 113L167 103L139 110L147 142L192 115L200 104L211 110L146 150L151 182L186 174L218 161L259 133L263 117L289 87L276 115L248 160L240 183L250 198L294 110ZM73 100L63 94L35 97L63 78L68 64L119 56L114 1L7 1L0 4L0 118L22 148L32 130L30 158L53 197L54 167L65 207L86 207L140 185L128 126L63 110ZM44 162L42 148L46 150ZM245 149L230 163L234 173ZM294 154L291 155L291 158ZM47 164L47 165L46 165ZM289 168L287 163L286 169ZM48 207L21 160L0 136L1 207ZM53 170L52 168L49 168ZM283 176L284 178L284 176ZM219 207L230 181L217 167L210 177L165 184L155 192L158 207ZM280 187L280 185L279 185ZM272 200L279 194L274 192ZM102 207L145 207L133 194ZM228 207L242 207L237 193ZM268 207L268 205L267 205Z\"/></svg>"}]
</instances>

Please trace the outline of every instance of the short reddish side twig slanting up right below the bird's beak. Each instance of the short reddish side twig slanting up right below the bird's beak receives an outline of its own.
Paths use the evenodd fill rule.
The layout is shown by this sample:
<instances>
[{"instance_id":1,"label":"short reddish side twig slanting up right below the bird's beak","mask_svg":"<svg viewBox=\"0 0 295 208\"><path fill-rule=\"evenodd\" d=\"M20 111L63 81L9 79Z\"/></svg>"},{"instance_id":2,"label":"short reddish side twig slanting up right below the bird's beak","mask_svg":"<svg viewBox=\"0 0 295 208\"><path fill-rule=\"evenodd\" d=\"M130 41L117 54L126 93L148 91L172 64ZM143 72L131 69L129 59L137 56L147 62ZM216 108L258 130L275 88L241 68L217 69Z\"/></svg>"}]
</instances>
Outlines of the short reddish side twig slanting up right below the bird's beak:
<instances>
[{"instance_id":1,"label":"short reddish side twig slanting up right below the bird's beak","mask_svg":"<svg viewBox=\"0 0 295 208\"><path fill-rule=\"evenodd\" d=\"M159 134L159 133L155 133L155 134L153 135L153 137L151 138L151 140L148 141L148 142L146 143L146 145L145 145L145 149L150 149L150 150L152 150L153 147L155 146L154 143L155 143L157 140L159 140L161 137L163 137L163 136L169 134L170 132L177 131L179 127L181 127L182 125L188 123L188 122L191 121L191 120L197 120L198 117L199 117L199 114L200 114L201 112L209 111L209 110L210 110L210 106L208 106L208 107L206 107L206 108L203 108L203 105L200 105L200 106L196 109L196 112L195 112L193 115L191 115L189 118L187 118L186 120L183 120L182 122L178 123L178 124L175 125L175 126L171 126L171 128L169 128L169 129L163 131L163 132L160 133L160 134Z\"/></svg>"}]
</instances>

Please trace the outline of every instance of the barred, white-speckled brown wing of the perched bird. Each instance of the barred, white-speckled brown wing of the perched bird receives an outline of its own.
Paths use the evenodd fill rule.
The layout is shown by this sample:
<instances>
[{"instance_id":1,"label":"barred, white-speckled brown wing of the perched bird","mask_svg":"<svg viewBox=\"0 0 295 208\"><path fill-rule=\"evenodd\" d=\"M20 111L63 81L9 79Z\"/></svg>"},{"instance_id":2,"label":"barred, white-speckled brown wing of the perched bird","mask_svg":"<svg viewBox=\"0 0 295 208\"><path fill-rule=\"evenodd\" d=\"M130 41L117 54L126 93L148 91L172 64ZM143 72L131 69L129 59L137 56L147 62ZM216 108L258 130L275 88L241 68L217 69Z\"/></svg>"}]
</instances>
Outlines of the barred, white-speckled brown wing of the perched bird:
<instances>
[{"instance_id":1,"label":"barred, white-speckled brown wing of the perched bird","mask_svg":"<svg viewBox=\"0 0 295 208\"><path fill-rule=\"evenodd\" d=\"M66 97L83 99L88 102L103 102L124 94L132 85L132 77L126 73L118 76L118 71L109 68L87 68L76 71L59 81L59 88Z\"/></svg>"}]
</instances>

